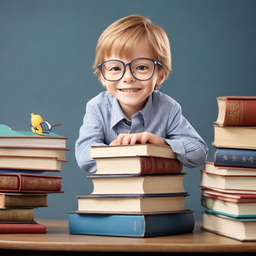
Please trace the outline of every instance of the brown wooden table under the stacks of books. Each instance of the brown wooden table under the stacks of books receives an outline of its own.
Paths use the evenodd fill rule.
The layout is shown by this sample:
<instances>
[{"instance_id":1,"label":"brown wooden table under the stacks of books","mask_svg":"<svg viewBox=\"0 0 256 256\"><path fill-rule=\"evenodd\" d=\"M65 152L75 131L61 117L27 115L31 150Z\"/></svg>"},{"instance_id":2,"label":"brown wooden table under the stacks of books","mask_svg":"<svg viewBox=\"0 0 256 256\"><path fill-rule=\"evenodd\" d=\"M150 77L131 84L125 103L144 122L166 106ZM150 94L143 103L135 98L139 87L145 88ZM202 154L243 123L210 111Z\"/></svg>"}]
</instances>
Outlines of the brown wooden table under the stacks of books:
<instances>
[{"instance_id":1,"label":"brown wooden table under the stacks of books","mask_svg":"<svg viewBox=\"0 0 256 256\"><path fill-rule=\"evenodd\" d=\"M72 235L68 220L36 220L47 227L47 234L0 234L0 255L170 255L190 252L256 252L256 242L240 242L200 229L193 233L151 238ZM86 252L86 253L85 253ZM122 253L121 253L122 252ZM246 253L246 254L245 254ZM234 254L232 254L234 255Z\"/></svg>"}]
</instances>

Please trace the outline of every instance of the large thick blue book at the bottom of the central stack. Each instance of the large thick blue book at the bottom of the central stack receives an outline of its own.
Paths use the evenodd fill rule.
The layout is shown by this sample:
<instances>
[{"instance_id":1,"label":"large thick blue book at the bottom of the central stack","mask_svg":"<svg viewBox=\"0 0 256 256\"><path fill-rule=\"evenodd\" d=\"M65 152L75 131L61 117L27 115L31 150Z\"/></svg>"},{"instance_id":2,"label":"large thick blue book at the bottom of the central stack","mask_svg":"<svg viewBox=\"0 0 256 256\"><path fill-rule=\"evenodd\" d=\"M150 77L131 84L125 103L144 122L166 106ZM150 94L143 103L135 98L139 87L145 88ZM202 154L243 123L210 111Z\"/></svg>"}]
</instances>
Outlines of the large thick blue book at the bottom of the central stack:
<instances>
[{"instance_id":1,"label":"large thick blue book at the bottom of the central stack","mask_svg":"<svg viewBox=\"0 0 256 256\"><path fill-rule=\"evenodd\" d=\"M84 214L69 213L70 234L150 237L193 232L191 210L165 214Z\"/></svg>"}]
</instances>

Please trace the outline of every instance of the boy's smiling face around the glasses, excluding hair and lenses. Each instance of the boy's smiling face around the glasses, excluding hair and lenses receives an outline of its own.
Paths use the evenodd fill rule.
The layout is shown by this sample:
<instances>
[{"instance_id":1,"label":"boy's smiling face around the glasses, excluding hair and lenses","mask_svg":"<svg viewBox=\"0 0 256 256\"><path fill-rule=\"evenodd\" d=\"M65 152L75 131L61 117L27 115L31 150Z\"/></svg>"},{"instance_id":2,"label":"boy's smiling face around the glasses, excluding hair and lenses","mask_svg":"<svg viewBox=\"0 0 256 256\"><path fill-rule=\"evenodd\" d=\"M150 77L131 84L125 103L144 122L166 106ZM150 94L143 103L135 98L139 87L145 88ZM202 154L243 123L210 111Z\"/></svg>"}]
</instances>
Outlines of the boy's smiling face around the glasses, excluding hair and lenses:
<instances>
[{"instance_id":1,"label":"boy's smiling face around the glasses, excluding hair and lenses","mask_svg":"<svg viewBox=\"0 0 256 256\"><path fill-rule=\"evenodd\" d=\"M113 52L104 61L120 60L124 63L129 63L135 58L151 58L157 60L153 50L146 49L146 43L144 39L141 39L134 49L132 59L121 59ZM135 79L132 76L129 65L126 66L124 76L119 81L108 81L101 74L102 84L106 86L106 89L113 97L117 98L127 117L129 115L128 112L136 113L144 107L146 99L153 92L155 85L161 84L163 80L164 77L159 77L158 65L155 66L153 76L146 81Z\"/></svg>"}]
</instances>

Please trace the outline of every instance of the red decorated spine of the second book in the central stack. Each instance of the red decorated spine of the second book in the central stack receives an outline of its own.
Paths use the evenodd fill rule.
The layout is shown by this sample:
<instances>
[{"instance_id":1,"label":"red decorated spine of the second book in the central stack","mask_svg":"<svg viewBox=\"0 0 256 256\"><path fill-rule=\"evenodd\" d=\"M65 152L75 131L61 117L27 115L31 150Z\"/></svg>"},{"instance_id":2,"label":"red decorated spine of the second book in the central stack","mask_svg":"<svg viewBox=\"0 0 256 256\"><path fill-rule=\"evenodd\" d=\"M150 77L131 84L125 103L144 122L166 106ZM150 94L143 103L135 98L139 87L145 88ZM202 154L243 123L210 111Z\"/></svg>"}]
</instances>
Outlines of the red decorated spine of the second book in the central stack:
<instances>
[{"instance_id":1,"label":"red decorated spine of the second book in the central stack","mask_svg":"<svg viewBox=\"0 0 256 256\"><path fill-rule=\"evenodd\" d=\"M182 163L165 157L138 156L141 162L140 175L181 173Z\"/></svg>"}]
</instances>

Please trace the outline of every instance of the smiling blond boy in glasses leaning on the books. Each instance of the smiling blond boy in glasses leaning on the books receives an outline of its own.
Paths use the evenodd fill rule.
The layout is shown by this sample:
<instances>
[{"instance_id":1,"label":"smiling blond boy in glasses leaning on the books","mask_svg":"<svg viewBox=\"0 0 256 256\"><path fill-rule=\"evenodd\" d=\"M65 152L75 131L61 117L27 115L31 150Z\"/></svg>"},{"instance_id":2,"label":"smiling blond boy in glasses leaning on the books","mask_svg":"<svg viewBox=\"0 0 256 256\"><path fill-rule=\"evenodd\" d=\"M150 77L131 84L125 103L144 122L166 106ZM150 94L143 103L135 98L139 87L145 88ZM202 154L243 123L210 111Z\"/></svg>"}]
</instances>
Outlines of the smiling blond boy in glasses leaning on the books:
<instances>
[{"instance_id":1,"label":"smiling blond boy in glasses leaning on the books","mask_svg":"<svg viewBox=\"0 0 256 256\"><path fill-rule=\"evenodd\" d=\"M165 31L141 15L112 23L101 34L94 74L106 91L86 106L75 145L79 167L97 171L91 146L169 145L184 166L204 164L208 147L183 117L180 104L157 89L171 71Z\"/></svg>"}]
</instances>

